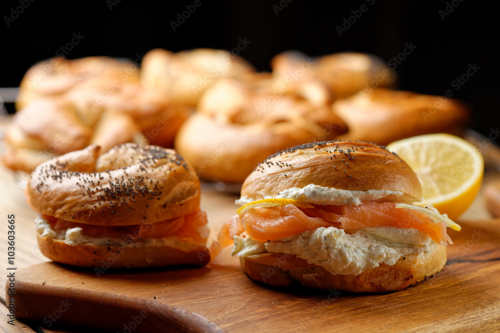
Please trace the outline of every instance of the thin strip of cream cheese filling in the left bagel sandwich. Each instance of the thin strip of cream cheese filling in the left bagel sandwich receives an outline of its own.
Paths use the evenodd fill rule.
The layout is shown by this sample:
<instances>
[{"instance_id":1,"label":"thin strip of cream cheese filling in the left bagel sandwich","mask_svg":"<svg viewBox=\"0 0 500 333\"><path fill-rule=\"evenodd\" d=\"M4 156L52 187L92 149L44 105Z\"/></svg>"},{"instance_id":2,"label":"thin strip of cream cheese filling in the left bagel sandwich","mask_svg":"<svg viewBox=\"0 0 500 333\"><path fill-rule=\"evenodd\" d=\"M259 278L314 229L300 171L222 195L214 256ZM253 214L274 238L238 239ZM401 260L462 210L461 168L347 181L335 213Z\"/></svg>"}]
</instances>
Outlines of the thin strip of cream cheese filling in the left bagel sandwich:
<instances>
[{"instance_id":1,"label":"thin strip of cream cheese filling in the left bagel sandwich","mask_svg":"<svg viewBox=\"0 0 500 333\"><path fill-rule=\"evenodd\" d=\"M175 236L168 238L134 238L133 235L123 235L123 237L88 237L82 234L81 228L68 228L60 232L56 232L47 220L41 216L37 216L34 220L36 232L40 237L48 237L53 240L61 241L67 245L92 245L92 246L126 246L126 247L142 247L142 246L169 246L183 251L191 251L200 246L197 243L186 242ZM208 233L207 226L206 232Z\"/></svg>"}]
</instances>

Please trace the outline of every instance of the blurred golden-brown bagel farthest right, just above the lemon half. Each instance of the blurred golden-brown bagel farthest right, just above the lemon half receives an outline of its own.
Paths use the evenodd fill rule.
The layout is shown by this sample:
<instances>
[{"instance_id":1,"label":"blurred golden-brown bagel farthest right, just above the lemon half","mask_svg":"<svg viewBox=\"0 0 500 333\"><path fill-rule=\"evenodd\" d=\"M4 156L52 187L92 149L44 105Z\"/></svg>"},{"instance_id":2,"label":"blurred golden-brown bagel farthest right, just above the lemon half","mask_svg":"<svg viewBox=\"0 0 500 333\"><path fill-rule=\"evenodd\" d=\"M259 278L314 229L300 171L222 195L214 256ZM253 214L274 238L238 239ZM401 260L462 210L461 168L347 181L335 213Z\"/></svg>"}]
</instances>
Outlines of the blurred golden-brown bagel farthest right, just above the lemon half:
<instances>
[{"instance_id":1,"label":"blurred golden-brown bagel farthest right, just above the lemon half","mask_svg":"<svg viewBox=\"0 0 500 333\"><path fill-rule=\"evenodd\" d=\"M332 109L349 128L339 139L383 145L421 134L458 134L470 114L456 99L382 88L337 100Z\"/></svg>"}]
</instances>

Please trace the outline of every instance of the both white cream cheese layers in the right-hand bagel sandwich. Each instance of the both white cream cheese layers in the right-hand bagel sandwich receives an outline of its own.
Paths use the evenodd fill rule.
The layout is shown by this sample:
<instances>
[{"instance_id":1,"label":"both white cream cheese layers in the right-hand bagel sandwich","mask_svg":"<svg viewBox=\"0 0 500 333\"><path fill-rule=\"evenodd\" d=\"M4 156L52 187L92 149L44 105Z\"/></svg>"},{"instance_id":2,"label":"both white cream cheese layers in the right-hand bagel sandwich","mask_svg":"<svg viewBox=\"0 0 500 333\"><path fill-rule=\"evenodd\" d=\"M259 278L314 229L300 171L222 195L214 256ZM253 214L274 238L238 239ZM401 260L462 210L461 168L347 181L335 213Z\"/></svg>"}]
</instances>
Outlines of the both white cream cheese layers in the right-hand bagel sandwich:
<instances>
[{"instance_id":1,"label":"both white cream cheese layers in the right-hand bagel sandwich","mask_svg":"<svg viewBox=\"0 0 500 333\"><path fill-rule=\"evenodd\" d=\"M383 199L395 202L396 208L405 208L428 215L434 222L445 222L454 230L460 230L446 215L441 215L431 207L408 205L410 198L400 191L366 190L347 191L309 184L303 188L289 188L277 196L264 196L263 199L291 199L315 204L360 205L364 201ZM241 197L236 204L245 205L253 198ZM283 237L268 242L261 242L249 236L234 236L231 254L236 257L248 257L262 253L295 255L309 264L323 267L331 274L357 275L363 271L378 267L380 264L394 265L399 258L410 254L428 254L436 244L426 233L413 228L374 227L346 234L335 227L307 230L298 235Z\"/></svg>"}]
</instances>

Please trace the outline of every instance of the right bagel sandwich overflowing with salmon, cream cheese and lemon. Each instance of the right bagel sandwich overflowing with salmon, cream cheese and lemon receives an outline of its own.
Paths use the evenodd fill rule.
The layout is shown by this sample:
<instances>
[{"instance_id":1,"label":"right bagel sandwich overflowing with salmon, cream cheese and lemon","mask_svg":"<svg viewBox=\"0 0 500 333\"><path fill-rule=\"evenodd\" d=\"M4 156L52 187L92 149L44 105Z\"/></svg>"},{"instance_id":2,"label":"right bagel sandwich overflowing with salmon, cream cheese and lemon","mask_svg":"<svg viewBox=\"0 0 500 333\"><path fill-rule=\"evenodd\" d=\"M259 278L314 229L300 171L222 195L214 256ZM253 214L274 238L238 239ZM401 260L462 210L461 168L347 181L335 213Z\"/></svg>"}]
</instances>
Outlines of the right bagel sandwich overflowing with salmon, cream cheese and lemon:
<instances>
[{"instance_id":1,"label":"right bagel sandwich overflowing with salmon, cream cheese and lemon","mask_svg":"<svg viewBox=\"0 0 500 333\"><path fill-rule=\"evenodd\" d=\"M411 168L383 146L299 145L246 178L219 240L232 238L231 255L263 284L398 291L439 272L446 229L460 230L433 207L414 205L421 196Z\"/></svg>"}]
</instances>

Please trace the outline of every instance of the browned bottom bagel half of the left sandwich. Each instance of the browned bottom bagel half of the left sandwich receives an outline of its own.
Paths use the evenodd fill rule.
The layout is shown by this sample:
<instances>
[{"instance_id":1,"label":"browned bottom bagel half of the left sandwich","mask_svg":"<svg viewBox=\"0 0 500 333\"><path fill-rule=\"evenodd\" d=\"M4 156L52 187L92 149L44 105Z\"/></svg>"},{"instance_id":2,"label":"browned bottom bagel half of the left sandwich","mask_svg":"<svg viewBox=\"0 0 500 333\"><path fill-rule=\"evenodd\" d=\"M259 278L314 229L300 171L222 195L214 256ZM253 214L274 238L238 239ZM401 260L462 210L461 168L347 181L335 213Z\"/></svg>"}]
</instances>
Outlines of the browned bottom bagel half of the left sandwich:
<instances>
[{"instance_id":1,"label":"browned bottom bagel half of the left sandwich","mask_svg":"<svg viewBox=\"0 0 500 333\"><path fill-rule=\"evenodd\" d=\"M108 268L145 268L172 265L206 265L210 261L203 244L184 244L185 250L168 245L129 244L98 246L67 245L61 240L37 235L41 253L58 263L80 267L95 267L96 273ZM99 271L99 269L101 271Z\"/></svg>"}]
</instances>

